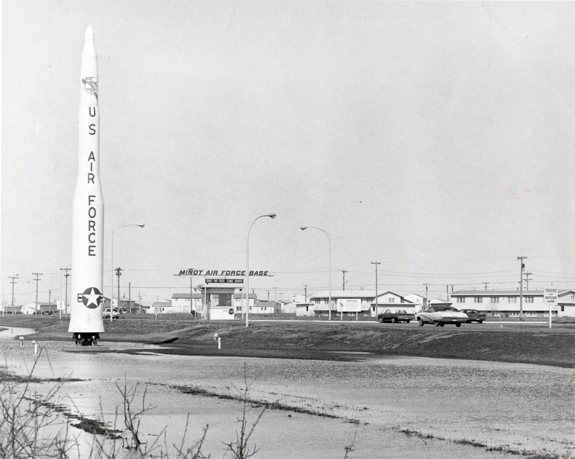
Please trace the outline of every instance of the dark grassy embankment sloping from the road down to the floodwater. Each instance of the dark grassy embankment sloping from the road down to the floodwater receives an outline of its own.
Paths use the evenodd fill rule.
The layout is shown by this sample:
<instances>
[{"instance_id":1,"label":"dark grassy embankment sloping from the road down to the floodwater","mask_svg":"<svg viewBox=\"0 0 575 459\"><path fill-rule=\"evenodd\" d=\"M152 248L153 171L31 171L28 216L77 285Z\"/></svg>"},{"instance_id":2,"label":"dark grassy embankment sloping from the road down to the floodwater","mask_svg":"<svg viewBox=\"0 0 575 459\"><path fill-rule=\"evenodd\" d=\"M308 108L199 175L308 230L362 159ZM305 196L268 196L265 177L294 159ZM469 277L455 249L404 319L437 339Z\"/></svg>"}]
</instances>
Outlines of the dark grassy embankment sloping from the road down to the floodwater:
<instances>
[{"instance_id":1,"label":"dark grassy embankment sloping from the road down to the floodwater","mask_svg":"<svg viewBox=\"0 0 575 459\"><path fill-rule=\"evenodd\" d=\"M37 330L35 339L70 341L68 320L56 317L9 317L2 326ZM343 322L172 321L121 318L105 322L104 341L163 343L161 352L189 355L341 359L339 352L440 357L534 363L573 367L575 333L572 325L553 330L542 326L509 325L488 328L420 328L412 324ZM213 334L221 337L218 350ZM345 358L349 358L348 355ZM361 357L361 356L356 356Z\"/></svg>"}]
</instances>

